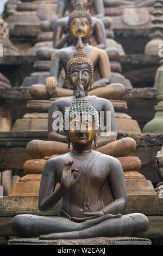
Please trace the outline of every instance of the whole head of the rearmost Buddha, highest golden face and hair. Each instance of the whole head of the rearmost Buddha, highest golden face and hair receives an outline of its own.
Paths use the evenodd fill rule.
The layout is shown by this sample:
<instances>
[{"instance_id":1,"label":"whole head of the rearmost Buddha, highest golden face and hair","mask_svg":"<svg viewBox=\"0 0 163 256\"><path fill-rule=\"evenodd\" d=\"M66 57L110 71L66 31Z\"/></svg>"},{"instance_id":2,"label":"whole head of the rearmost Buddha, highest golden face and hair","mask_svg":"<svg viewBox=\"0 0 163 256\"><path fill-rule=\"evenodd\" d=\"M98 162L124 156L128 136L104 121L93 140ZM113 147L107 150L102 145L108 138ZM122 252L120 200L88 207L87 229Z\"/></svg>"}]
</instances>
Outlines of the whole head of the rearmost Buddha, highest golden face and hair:
<instances>
[{"instance_id":1,"label":"whole head of the rearmost Buddha, highest golden face and hair","mask_svg":"<svg viewBox=\"0 0 163 256\"><path fill-rule=\"evenodd\" d=\"M92 34L91 14L82 5L78 5L68 17L67 29L71 41L77 41L81 36L83 42L88 42Z\"/></svg>"}]
</instances>

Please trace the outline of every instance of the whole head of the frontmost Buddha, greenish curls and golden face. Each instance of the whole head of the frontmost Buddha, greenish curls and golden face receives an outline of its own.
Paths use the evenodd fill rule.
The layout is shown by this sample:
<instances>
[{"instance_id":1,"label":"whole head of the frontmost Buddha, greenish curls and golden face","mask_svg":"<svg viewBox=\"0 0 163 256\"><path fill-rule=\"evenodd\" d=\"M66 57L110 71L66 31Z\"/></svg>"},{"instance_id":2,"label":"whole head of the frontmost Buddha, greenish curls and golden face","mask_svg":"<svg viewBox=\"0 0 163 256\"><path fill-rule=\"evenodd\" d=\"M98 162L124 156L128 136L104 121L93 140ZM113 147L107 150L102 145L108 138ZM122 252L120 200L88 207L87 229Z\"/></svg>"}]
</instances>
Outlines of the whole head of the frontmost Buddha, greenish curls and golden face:
<instances>
[{"instance_id":1,"label":"whole head of the frontmost Buddha, greenish curls and golden face","mask_svg":"<svg viewBox=\"0 0 163 256\"><path fill-rule=\"evenodd\" d=\"M78 147L87 147L94 140L96 145L99 114L84 98L84 95L82 81L79 80L76 100L64 115L64 131L68 140L68 148L70 148L70 142Z\"/></svg>"}]
</instances>

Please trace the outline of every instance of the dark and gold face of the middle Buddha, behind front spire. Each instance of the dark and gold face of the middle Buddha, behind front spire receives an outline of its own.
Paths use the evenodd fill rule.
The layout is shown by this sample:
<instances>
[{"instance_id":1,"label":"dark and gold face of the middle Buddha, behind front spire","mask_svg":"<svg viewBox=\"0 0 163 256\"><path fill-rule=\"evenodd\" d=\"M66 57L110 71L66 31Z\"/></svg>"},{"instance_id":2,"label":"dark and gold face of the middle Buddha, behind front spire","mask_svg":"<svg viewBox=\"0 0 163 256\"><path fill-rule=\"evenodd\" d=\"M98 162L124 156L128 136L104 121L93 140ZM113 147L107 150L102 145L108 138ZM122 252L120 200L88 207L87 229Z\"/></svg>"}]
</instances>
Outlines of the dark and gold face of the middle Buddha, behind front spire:
<instances>
[{"instance_id":1,"label":"dark and gold face of the middle Buddha, behind front spire","mask_svg":"<svg viewBox=\"0 0 163 256\"><path fill-rule=\"evenodd\" d=\"M73 64L71 66L70 83L74 89L78 86L79 78L82 81L84 90L86 91L91 83L91 68L88 64Z\"/></svg>"}]
</instances>

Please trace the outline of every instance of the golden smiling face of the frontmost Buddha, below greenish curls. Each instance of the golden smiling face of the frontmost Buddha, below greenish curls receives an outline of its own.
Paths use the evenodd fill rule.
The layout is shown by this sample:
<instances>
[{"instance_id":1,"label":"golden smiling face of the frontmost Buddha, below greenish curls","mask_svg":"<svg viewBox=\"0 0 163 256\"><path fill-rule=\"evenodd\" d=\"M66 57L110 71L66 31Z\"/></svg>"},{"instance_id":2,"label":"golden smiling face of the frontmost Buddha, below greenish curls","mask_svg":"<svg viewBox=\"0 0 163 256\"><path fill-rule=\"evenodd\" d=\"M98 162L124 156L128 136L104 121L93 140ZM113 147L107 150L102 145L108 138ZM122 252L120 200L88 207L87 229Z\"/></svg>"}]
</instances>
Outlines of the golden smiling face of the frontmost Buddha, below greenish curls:
<instances>
[{"instance_id":1,"label":"golden smiling face of the frontmost Buddha, below greenish curls","mask_svg":"<svg viewBox=\"0 0 163 256\"><path fill-rule=\"evenodd\" d=\"M68 137L72 144L91 144L95 135L95 118L92 115L81 114L70 118Z\"/></svg>"}]
</instances>

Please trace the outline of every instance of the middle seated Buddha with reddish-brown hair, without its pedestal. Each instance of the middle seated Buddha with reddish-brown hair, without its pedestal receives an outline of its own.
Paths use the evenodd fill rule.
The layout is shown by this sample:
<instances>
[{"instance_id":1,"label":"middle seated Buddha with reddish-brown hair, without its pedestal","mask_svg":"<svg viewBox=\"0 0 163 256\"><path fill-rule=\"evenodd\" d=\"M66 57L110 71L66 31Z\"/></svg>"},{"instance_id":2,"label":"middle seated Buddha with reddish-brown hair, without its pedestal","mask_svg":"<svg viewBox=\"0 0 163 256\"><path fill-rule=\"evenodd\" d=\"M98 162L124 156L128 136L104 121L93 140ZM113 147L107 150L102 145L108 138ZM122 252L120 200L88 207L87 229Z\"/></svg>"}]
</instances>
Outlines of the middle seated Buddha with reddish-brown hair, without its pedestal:
<instances>
[{"instance_id":1,"label":"middle seated Buddha with reddish-brown hair, without its pedestal","mask_svg":"<svg viewBox=\"0 0 163 256\"><path fill-rule=\"evenodd\" d=\"M82 84L85 90L85 98L89 103L95 107L100 114L101 111L103 111L106 124L106 115L107 112L110 113L111 117L111 126L110 130L105 132L105 137L101 136L101 132L98 133L98 142L97 142L97 150L104 150L103 153L105 154L115 154L115 156L127 156L130 155L136 147L135 141L132 138L123 138L119 139L118 141L112 141L112 139L117 138L117 129L116 129L116 123L115 123L115 112L114 108L112 106L112 103L104 99L105 94L110 92L113 94L116 99L118 97L121 97L123 93L125 92L125 88L122 84L114 84L114 87L112 85L104 86L95 90L91 90L89 92L89 88L91 87L92 78L93 78L93 62L91 59L87 58L86 53L83 51L83 43L82 40L78 39L77 44L77 51L74 53L73 58L70 59L67 63L67 79L68 83L71 84L72 95L69 95L67 97L61 97L61 99L55 100L51 107L49 108L49 114L48 114L48 139L50 141L39 141L39 140L33 140L27 144L27 153L34 157L34 158L43 158L46 156L51 156L54 154L56 150L56 144L59 143L60 150L61 148L65 148L65 143L67 143L67 138L62 135L62 132L59 131L59 128L57 130L53 129L53 123L55 122L55 119L57 117L54 117L54 114L60 111L62 115L65 114L65 107L70 107L75 99L75 94L78 86L79 81L79 74L81 76ZM117 92L116 92L117 88ZM33 86L33 89L35 89L35 86ZM55 88L53 96L56 96L56 93L59 94L60 90L66 90L64 88ZM99 91L99 92L96 92ZM95 96L96 95L96 96ZM99 95L99 97L97 96ZM111 139L111 144L109 143ZM57 142L57 143L56 143ZM108 144L109 143L109 144ZM40 145L42 145L40 147ZM108 145L108 146L107 146ZM104 146L104 147L102 147ZM118 151L118 148L121 150ZM48 151L47 151L48 149ZM123 149L123 150L122 150ZM65 149L67 150L67 149ZM123 152L122 152L123 151ZM60 151L61 152L61 151ZM59 152L55 152L55 154L58 154ZM62 154L66 153L66 151L62 151Z\"/></svg>"}]
</instances>

